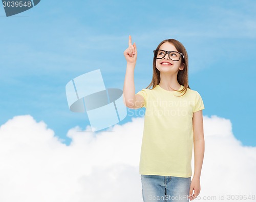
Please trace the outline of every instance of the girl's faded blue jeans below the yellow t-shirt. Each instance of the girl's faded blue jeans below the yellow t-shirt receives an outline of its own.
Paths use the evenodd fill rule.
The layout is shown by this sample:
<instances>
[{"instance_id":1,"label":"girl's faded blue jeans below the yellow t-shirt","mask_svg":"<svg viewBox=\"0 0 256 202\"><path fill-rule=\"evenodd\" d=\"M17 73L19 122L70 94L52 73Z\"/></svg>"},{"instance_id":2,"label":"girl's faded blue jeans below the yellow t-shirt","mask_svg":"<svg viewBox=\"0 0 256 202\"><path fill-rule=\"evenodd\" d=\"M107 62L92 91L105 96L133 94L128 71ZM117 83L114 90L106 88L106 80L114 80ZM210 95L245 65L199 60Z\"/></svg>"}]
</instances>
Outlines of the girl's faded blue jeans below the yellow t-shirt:
<instances>
[{"instance_id":1,"label":"girl's faded blue jeans below the yellow t-shirt","mask_svg":"<svg viewBox=\"0 0 256 202\"><path fill-rule=\"evenodd\" d=\"M191 177L141 175L144 202L189 201Z\"/></svg>"}]
</instances>

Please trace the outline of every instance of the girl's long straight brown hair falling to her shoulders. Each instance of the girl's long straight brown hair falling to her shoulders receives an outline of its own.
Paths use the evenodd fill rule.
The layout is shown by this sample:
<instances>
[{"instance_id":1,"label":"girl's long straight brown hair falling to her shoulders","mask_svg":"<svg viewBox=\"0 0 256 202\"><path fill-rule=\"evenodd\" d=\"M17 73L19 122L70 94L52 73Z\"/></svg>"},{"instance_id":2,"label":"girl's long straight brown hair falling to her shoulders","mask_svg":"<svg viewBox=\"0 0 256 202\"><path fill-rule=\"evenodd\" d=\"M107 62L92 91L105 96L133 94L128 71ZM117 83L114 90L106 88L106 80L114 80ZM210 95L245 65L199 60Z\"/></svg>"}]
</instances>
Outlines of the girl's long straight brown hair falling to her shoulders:
<instances>
[{"instance_id":1,"label":"girl's long straight brown hair falling to her shoulders","mask_svg":"<svg viewBox=\"0 0 256 202\"><path fill-rule=\"evenodd\" d=\"M177 75L177 80L178 80L179 84L183 85L184 87L180 91L177 91L177 92L181 92L181 93L185 92L186 93L187 88L190 89L190 87L188 85L188 55L187 55L187 51L186 51L185 47L183 46L183 44L180 41L175 40L175 39L163 40L161 43L159 43L159 45L156 49L159 49L160 46L165 42L172 43L175 46L175 48L177 49L177 51L180 52L180 53L183 53L183 55L184 55L184 58L181 57L181 62L183 62L184 69L179 70L178 75ZM146 88L149 89L151 86L153 86L152 87L152 89L153 89L159 83L160 83L160 72L156 68L156 58L154 57L154 59L153 59L153 77L152 77L152 81ZM181 96L183 96L183 95L181 95Z\"/></svg>"}]
</instances>

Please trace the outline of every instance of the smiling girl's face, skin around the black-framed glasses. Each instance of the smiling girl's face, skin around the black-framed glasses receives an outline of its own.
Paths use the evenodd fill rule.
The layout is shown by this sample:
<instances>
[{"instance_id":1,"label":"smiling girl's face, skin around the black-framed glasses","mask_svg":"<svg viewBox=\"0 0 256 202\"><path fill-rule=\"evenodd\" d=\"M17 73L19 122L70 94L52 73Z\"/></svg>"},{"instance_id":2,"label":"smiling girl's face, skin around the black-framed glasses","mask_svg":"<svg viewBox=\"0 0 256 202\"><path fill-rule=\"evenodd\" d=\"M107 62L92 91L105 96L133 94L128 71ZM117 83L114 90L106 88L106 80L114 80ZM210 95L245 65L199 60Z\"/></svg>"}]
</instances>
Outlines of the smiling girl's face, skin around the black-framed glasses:
<instances>
[{"instance_id":1,"label":"smiling girl's face, skin around the black-framed glasses","mask_svg":"<svg viewBox=\"0 0 256 202\"><path fill-rule=\"evenodd\" d=\"M164 51L177 51L175 46L172 43L164 42L159 49ZM177 51L178 52L178 51ZM175 74L179 70L183 70L184 66L181 63L182 57L179 61L173 61L169 58L168 54L166 54L162 59L156 59L156 68L161 73L172 73Z\"/></svg>"}]
</instances>

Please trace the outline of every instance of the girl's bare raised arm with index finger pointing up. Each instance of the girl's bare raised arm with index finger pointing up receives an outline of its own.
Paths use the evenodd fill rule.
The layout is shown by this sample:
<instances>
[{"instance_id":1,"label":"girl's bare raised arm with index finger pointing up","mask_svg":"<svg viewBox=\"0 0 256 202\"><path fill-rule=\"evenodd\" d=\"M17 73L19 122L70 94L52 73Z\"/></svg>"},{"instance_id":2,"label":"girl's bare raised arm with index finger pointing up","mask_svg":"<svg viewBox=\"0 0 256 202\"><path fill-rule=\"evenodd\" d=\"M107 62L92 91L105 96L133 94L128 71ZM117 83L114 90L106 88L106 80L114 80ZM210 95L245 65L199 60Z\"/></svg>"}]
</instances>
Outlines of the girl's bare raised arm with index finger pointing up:
<instances>
[{"instance_id":1,"label":"girl's bare raised arm with index finger pointing up","mask_svg":"<svg viewBox=\"0 0 256 202\"><path fill-rule=\"evenodd\" d=\"M129 36L129 47L123 52L127 61L126 73L123 84L123 98L125 106L133 109L141 108L144 105L144 98L135 95L134 70L137 60L137 47L132 44L132 37Z\"/></svg>"}]
</instances>

